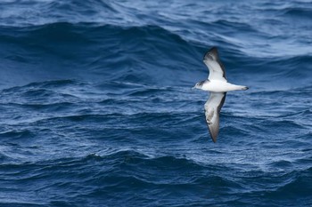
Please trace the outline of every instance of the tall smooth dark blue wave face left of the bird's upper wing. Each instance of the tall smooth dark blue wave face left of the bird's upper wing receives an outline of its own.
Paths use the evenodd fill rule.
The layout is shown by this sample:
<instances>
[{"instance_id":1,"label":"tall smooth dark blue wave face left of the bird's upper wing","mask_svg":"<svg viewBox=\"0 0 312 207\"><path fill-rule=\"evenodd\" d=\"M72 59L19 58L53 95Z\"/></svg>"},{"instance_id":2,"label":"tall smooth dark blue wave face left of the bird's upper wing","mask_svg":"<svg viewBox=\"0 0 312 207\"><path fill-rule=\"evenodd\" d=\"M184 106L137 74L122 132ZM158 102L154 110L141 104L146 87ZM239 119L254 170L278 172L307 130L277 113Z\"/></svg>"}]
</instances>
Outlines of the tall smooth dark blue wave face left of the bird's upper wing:
<instances>
[{"instance_id":1,"label":"tall smooth dark blue wave face left of the bird's upper wing","mask_svg":"<svg viewBox=\"0 0 312 207\"><path fill-rule=\"evenodd\" d=\"M193 59L196 50L192 44L158 26L123 28L112 25L98 27L83 23L54 23L17 30L20 30L19 36L8 34L3 38L27 60L19 63L18 59L10 55L4 56L3 60L5 65L29 66L23 70L11 66L12 70L5 73L4 78L11 73L21 73L24 79L35 79L34 82L49 76L53 79L81 79L84 76L84 79L89 77L86 80L95 82L101 78L103 81L168 84L173 80L165 76L175 75L183 82L187 80L185 73L193 76L187 65L197 63ZM176 48L175 52L169 52L170 48ZM51 59L56 63L53 68L41 67L49 65L48 61ZM163 59L171 62L164 65ZM181 59L184 61L177 62ZM188 63L185 64L186 62ZM41 72L43 70L45 73ZM4 83L7 81L8 79ZM21 81L17 79L15 82Z\"/></svg>"}]
</instances>

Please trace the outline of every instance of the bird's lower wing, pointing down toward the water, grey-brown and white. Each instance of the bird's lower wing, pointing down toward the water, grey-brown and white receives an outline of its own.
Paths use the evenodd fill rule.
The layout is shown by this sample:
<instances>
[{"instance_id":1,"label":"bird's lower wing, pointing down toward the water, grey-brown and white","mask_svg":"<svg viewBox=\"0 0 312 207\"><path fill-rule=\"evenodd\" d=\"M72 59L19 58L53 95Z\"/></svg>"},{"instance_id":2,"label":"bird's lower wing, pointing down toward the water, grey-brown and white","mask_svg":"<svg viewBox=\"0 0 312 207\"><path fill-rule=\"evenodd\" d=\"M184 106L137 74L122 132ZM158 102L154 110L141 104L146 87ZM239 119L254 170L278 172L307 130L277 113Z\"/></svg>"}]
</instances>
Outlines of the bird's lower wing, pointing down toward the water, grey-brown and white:
<instances>
[{"instance_id":1,"label":"bird's lower wing, pointing down toward the water, grey-brown and white","mask_svg":"<svg viewBox=\"0 0 312 207\"><path fill-rule=\"evenodd\" d=\"M213 142L218 138L219 113L225 100L226 92L210 92L209 100L205 103L206 122Z\"/></svg>"}]
</instances>

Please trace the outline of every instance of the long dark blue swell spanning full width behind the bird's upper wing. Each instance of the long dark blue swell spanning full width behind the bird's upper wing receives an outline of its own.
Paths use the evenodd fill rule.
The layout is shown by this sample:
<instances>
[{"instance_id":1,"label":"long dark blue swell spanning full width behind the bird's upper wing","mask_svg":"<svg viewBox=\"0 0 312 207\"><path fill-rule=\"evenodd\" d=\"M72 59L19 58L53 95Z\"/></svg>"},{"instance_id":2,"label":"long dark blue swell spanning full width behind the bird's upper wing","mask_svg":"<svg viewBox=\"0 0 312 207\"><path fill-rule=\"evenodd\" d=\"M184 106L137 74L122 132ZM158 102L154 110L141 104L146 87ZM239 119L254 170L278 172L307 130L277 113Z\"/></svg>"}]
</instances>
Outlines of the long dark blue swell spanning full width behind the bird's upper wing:
<instances>
[{"instance_id":1,"label":"long dark blue swell spanning full width behind the bird's upper wing","mask_svg":"<svg viewBox=\"0 0 312 207\"><path fill-rule=\"evenodd\" d=\"M190 85L201 76L207 76L207 69L201 63L202 53L207 48L160 26L59 22L13 29L18 35L11 35L11 28L2 27L2 38L17 51L14 57L10 54L2 58L4 68L11 68L2 72L3 83L28 84L62 78L94 83ZM226 51L221 49L222 60L230 69L228 73L238 80L252 75L256 76L256 81L261 81L259 74L262 74L274 78L276 84L281 84L278 80L285 78L308 82L308 54L275 59L249 57L246 61L246 54L229 45ZM52 68L42 68L50 65L51 60L55 62ZM21 73L23 79L19 76L12 80L7 78L16 73ZM238 76L242 73L244 76ZM291 82L288 85L292 85Z\"/></svg>"}]
</instances>

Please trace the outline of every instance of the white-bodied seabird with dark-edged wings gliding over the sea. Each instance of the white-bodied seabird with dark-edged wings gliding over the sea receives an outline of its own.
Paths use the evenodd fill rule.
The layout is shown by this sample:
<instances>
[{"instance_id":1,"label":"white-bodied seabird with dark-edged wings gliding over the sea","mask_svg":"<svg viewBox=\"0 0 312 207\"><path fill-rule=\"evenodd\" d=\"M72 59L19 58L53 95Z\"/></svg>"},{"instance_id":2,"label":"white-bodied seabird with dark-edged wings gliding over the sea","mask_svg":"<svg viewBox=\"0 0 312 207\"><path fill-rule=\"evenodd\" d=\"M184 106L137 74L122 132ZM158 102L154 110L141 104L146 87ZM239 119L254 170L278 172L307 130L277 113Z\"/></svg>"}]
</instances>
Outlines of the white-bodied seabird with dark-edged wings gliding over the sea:
<instances>
[{"instance_id":1,"label":"white-bodied seabird with dark-edged wings gliding over the sea","mask_svg":"<svg viewBox=\"0 0 312 207\"><path fill-rule=\"evenodd\" d=\"M205 103L205 116L211 139L216 142L219 130L219 113L225 103L226 92L247 90L248 87L227 82L226 71L218 58L217 47L212 47L205 54L203 62L209 68L208 79L195 84L193 88L210 92L209 100Z\"/></svg>"}]
</instances>

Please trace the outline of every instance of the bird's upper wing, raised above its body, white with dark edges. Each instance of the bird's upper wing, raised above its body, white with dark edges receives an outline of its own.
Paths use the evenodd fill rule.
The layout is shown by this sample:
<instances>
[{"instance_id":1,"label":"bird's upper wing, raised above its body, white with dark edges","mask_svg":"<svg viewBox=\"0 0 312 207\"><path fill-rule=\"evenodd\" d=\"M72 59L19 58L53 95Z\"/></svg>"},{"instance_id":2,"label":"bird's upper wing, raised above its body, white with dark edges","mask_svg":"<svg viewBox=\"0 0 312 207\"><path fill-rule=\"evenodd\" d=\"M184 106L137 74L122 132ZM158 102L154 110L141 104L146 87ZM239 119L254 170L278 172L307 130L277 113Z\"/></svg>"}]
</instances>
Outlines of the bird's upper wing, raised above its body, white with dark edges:
<instances>
[{"instance_id":1,"label":"bird's upper wing, raised above its body, white with dark edges","mask_svg":"<svg viewBox=\"0 0 312 207\"><path fill-rule=\"evenodd\" d=\"M203 57L203 62L209 68L208 79L226 82L226 70L218 58L218 49L213 47Z\"/></svg>"}]
</instances>

